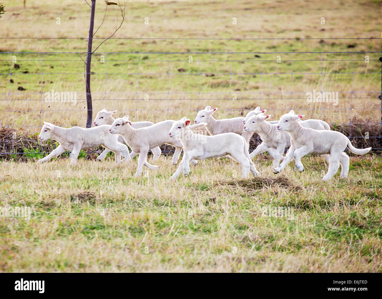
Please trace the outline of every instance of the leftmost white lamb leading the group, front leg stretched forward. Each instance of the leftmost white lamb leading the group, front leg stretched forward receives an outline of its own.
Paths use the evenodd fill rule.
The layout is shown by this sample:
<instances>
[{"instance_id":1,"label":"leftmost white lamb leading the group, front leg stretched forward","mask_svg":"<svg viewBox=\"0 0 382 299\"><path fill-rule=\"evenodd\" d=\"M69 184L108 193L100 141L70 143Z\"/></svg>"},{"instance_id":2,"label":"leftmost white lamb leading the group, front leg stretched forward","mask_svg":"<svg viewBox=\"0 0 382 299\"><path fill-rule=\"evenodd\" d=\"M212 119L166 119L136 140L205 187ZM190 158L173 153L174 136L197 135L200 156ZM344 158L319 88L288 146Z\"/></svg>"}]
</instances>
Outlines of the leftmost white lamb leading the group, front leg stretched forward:
<instances>
[{"instance_id":1,"label":"leftmost white lamb leading the group, front leg stretched forward","mask_svg":"<svg viewBox=\"0 0 382 299\"><path fill-rule=\"evenodd\" d=\"M106 124L88 129L81 127L61 128L44 121L44 126L42 126L39 135L40 141L45 141L51 138L57 140L60 145L52 150L49 155L37 162L47 162L66 150L71 150L71 164L74 165L81 149L92 149L99 145L103 145L114 152L115 162L118 163L121 161L121 155L125 158L125 162L131 161L128 147L125 144L118 142L118 136L110 134L109 128L110 126Z\"/></svg>"}]
</instances>

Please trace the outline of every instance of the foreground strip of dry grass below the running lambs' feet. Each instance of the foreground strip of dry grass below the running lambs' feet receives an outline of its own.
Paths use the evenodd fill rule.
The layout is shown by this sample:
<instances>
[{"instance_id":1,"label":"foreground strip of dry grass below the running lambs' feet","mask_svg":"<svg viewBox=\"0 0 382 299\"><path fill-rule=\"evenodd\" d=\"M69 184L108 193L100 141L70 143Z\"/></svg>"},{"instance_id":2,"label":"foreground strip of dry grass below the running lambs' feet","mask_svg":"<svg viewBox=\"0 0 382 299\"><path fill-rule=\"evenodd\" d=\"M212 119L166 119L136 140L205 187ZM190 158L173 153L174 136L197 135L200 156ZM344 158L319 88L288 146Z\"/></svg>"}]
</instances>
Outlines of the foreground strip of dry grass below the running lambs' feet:
<instances>
[{"instance_id":1,"label":"foreground strip of dry grass below the running lambs' feet","mask_svg":"<svg viewBox=\"0 0 382 299\"><path fill-rule=\"evenodd\" d=\"M239 165L220 159L175 183L163 157L139 179L136 163L3 162L2 204L32 215L2 219L1 270L381 272L380 157L352 157L350 177L327 184L324 158L274 183L270 160L256 161L259 179L237 178ZM264 217L269 205L293 217Z\"/></svg>"}]
</instances>

